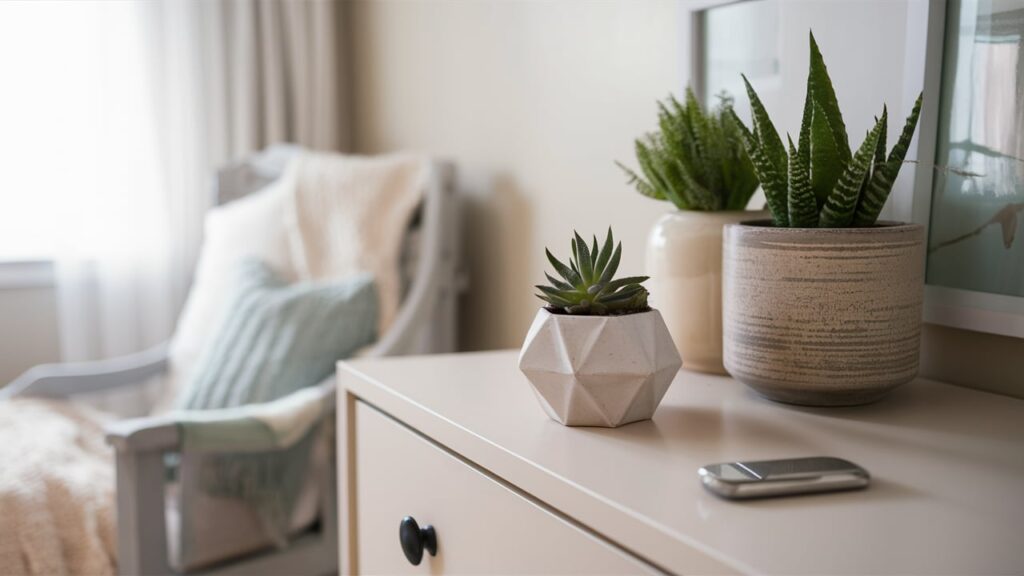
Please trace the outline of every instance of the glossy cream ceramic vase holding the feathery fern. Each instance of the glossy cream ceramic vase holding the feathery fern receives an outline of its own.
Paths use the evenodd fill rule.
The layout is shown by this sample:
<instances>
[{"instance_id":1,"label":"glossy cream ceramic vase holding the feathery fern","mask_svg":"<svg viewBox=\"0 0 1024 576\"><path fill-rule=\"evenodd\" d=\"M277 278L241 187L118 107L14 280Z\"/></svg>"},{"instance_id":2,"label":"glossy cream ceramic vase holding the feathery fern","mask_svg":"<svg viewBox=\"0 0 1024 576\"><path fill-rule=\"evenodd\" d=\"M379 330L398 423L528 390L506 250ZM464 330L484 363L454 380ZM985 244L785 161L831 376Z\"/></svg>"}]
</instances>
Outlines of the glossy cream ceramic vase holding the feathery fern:
<instances>
[{"instance_id":1,"label":"glossy cream ceramic vase holding the feathery fern","mask_svg":"<svg viewBox=\"0 0 1024 576\"><path fill-rule=\"evenodd\" d=\"M722 366L722 227L768 217L766 211L679 210L662 216L647 239L647 286L683 366L725 374Z\"/></svg>"}]
</instances>

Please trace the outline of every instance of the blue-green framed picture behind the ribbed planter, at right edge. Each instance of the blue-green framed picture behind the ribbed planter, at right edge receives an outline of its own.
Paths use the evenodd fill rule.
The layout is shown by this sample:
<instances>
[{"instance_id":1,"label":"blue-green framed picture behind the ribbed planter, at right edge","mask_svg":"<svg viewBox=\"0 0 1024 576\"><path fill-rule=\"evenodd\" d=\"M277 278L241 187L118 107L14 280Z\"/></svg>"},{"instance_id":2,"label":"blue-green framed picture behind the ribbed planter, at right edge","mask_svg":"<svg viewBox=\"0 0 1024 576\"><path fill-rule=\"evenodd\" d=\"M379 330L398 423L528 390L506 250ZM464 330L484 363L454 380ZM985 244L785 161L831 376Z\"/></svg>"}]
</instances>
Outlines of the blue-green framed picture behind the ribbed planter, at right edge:
<instances>
[{"instance_id":1,"label":"blue-green framed picture behind the ribbed planter, at right edge","mask_svg":"<svg viewBox=\"0 0 1024 576\"><path fill-rule=\"evenodd\" d=\"M1024 337L1024 0L927 11L911 208L928 224L925 321Z\"/></svg>"}]
</instances>

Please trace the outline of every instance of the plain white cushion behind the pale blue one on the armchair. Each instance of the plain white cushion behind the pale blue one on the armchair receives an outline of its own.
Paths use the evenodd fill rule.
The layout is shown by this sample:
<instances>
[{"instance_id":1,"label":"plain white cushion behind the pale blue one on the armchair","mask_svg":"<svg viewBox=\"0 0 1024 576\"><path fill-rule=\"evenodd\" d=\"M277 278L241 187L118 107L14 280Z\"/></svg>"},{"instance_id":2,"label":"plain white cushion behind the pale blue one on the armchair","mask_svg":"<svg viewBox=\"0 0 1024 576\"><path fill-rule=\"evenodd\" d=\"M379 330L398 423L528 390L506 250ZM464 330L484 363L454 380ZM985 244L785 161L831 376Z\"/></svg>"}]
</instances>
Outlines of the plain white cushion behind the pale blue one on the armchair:
<instances>
[{"instance_id":1,"label":"plain white cushion behind the pale blue one on the armchair","mask_svg":"<svg viewBox=\"0 0 1024 576\"><path fill-rule=\"evenodd\" d=\"M207 212L203 248L188 298L171 342L170 374L157 412L168 409L216 328L230 298L239 262L256 257L285 279L297 278L282 213L288 190L281 183Z\"/></svg>"}]
</instances>

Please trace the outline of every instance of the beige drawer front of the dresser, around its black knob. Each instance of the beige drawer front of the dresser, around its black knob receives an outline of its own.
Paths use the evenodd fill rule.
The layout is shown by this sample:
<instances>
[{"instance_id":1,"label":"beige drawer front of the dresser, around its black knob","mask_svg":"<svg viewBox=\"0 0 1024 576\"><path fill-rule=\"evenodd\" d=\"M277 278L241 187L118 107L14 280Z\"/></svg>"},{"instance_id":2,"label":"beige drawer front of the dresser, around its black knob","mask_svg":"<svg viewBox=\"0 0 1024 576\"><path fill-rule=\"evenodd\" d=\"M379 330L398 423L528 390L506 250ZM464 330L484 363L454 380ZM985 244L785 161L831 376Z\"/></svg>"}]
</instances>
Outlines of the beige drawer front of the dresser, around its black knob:
<instances>
[{"instance_id":1,"label":"beige drawer front of the dresser, around its black knob","mask_svg":"<svg viewBox=\"0 0 1024 576\"><path fill-rule=\"evenodd\" d=\"M361 574L638 574L651 568L375 408L355 405L355 566ZM411 516L437 556L402 553Z\"/></svg>"}]
</instances>

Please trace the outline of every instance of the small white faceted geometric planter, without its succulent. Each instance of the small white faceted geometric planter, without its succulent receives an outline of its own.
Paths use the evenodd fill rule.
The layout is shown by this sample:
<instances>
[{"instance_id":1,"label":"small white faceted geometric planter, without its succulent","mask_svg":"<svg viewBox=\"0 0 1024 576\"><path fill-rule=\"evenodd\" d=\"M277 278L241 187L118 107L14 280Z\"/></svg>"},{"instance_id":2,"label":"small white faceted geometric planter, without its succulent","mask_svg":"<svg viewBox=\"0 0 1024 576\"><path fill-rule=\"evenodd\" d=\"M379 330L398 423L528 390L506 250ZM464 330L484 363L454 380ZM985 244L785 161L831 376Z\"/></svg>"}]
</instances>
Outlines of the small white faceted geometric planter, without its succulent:
<instances>
[{"instance_id":1,"label":"small white faceted geometric planter, without its succulent","mask_svg":"<svg viewBox=\"0 0 1024 576\"><path fill-rule=\"evenodd\" d=\"M657 311L570 316L541 308L519 354L544 410L568 426L615 427L654 415L682 366Z\"/></svg>"}]
</instances>

